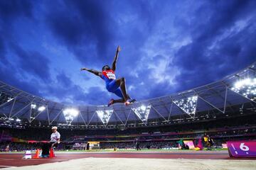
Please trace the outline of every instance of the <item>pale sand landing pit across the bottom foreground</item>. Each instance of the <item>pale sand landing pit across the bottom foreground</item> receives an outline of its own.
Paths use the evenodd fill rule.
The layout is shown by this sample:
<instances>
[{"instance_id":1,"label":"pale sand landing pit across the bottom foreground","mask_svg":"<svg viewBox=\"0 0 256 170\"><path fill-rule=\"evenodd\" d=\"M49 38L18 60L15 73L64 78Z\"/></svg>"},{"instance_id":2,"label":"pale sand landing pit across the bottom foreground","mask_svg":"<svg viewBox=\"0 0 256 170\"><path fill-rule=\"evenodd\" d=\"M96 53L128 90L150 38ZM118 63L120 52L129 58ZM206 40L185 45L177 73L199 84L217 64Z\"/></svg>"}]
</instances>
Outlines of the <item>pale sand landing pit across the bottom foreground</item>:
<instances>
[{"instance_id":1,"label":"pale sand landing pit across the bottom foreground","mask_svg":"<svg viewBox=\"0 0 256 170\"><path fill-rule=\"evenodd\" d=\"M22 166L7 169L15 170L155 170L155 169L256 169L254 160L210 160L210 159L125 159L125 158L84 158L68 162L55 162L36 166Z\"/></svg>"}]
</instances>

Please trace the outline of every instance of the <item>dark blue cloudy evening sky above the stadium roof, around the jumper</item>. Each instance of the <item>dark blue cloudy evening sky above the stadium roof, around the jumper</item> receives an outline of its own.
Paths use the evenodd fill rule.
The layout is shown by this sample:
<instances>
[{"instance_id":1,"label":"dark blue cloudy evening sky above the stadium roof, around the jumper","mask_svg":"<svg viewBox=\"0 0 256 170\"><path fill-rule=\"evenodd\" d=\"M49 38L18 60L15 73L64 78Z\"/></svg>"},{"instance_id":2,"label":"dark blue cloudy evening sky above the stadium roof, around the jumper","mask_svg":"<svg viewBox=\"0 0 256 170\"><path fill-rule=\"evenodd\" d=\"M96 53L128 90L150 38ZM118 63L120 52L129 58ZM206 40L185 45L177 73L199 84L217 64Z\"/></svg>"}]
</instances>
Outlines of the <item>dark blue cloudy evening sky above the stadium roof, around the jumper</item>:
<instances>
[{"instance_id":1,"label":"dark blue cloudy evening sky above the stadium roof, around the jumper","mask_svg":"<svg viewBox=\"0 0 256 170\"><path fill-rule=\"evenodd\" d=\"M0 80L74 104L112 97L101 69L137 99L208 84L256 59L256 1L0 1Z\"/></svg>"}]
</instances>

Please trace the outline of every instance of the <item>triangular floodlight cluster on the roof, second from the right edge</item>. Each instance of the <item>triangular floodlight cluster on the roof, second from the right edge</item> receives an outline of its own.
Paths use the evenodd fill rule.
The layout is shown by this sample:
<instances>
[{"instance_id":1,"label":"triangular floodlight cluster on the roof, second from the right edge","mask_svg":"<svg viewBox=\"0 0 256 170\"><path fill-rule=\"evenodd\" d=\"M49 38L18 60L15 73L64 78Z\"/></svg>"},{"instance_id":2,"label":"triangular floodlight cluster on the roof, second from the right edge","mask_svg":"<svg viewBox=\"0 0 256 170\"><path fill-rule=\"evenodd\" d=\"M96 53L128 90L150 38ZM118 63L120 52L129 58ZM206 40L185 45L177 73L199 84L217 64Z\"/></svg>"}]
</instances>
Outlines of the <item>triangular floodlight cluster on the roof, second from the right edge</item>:
<instances>
[{"instance_id":1,"label":"triangular floodlight cluster on the roof, second from the right edge","mask_svg":"<svg viewBox=\"0 0 256 170\"><path fill-rule=\"evenodd\" d=\"M196 114L196 103L198 100L198 96L191 96L188 98L183 98L178 101L174 101L174 103L182 109L182 111L186 112L188 115Z\"/></svg>"}]
</instances>

